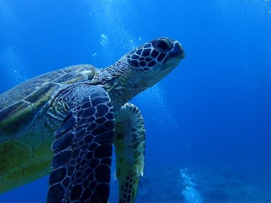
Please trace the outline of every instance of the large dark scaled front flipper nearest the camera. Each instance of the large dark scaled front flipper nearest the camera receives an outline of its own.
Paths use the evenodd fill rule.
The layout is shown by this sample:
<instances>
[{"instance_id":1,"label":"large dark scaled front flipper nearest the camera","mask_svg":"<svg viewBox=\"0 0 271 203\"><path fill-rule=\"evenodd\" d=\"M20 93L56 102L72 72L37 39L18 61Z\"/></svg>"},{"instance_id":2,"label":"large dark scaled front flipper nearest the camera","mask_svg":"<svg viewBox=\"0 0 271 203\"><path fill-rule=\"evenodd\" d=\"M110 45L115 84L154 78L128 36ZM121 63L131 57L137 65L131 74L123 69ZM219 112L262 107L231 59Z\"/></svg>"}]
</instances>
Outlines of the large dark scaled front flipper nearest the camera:
<instances>
[{"instance_id":1,"label":"large dark scaled front flipper nearest the camera","mask_svg":"<svg viewBox=\"0 0 271 203\"><path fill-rule=\"evenodd\" d=\"M108 93L77 85L60 96L70 112L55 131L47 203L108 203L114 131Z\"/></svg>"}]
</instances>

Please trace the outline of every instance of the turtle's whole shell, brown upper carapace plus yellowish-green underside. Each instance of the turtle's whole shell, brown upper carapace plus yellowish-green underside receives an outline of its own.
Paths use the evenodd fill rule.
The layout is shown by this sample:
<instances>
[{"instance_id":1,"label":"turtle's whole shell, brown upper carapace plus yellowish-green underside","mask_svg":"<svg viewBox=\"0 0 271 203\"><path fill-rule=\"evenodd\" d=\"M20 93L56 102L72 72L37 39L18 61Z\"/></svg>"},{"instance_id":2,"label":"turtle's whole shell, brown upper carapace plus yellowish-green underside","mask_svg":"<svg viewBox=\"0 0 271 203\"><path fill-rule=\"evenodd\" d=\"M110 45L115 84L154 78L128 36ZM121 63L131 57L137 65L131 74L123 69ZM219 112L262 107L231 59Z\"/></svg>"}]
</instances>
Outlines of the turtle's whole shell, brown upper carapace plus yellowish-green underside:
<instances>
[{"instance_id":1,"label":"turtle's whole shell, brown upper carapace plus yellowish-green underside","mask_svg":"<svg viewBox=\"0 0 271 203\"><path fill-rule=\"evenodd\" d=\"M92 80L96 73L91 65L70 66L0 94L0 194L51 171L54 131L39 120L41 110L59 90Z\"/></svg>"}]
</instances>

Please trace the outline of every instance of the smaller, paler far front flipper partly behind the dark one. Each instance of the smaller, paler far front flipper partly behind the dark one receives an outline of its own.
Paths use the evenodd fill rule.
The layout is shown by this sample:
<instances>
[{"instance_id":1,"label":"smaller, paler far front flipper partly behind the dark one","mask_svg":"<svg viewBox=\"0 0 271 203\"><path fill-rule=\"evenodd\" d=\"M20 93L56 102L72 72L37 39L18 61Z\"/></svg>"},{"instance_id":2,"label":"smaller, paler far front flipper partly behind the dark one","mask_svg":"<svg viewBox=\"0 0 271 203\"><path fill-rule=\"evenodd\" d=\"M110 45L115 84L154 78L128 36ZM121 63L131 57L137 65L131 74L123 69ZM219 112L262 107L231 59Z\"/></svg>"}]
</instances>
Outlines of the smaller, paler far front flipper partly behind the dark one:
<instances>
[{"instance_id":1,"label":"smaller, paler far front flipper partly behind the dark one","mask_svg":"<svg viewBox=\"0 0 271 203\"><path fill-rule=\"evenodd\" d=\"M114 146L119 203L134 203L144 172L145 125L139 109L126 103L115 115Z\"/></svg>"}]
</instances>

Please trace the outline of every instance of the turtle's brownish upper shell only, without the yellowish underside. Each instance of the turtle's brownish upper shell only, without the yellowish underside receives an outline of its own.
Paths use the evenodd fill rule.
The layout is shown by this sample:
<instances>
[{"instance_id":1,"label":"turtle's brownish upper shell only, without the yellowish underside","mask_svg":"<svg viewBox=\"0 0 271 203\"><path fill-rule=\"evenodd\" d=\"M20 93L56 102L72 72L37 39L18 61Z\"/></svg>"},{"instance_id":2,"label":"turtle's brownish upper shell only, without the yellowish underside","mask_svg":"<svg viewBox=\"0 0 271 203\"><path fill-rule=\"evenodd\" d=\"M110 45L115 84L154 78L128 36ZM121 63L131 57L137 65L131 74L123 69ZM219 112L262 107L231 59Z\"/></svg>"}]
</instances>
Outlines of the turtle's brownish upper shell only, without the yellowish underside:
<instances>
[{"instance_id":1,"label":"turtle's brownish upper shell only, without the yellowish underside","mask_svg":"<svg viewBox=\"0 0 271 203\"><path fill-rule=\"evenodd\" d=\"M16 135L29 123L52 95L65 85L91 80L91 65L75 65L43 74L0 94L0 141Z\"/></svg>"}]
</instances>

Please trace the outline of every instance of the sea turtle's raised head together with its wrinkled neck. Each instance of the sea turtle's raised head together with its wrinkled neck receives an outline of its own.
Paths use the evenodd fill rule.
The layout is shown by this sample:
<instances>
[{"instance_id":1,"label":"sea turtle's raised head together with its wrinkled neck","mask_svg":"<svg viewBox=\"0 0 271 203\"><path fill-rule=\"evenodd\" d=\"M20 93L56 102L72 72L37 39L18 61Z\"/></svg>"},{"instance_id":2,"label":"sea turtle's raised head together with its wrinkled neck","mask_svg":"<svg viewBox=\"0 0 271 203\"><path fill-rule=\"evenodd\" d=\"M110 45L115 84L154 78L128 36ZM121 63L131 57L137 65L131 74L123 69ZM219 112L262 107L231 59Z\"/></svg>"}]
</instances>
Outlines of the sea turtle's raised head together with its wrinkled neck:
<instances>
[{"instance_id":1,"label":"sea turtle's raised head together with its wrinkled neck","mask_svg":"<svg viewBox=\"0 0 271 203\"><path fill-rule=\"evenodd\" d=\"M184 58L180 42L158 38L138 46L105 69L106 88L116 110L153 86Z\"/></svg>"}]
</instances>

